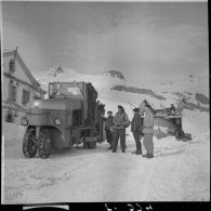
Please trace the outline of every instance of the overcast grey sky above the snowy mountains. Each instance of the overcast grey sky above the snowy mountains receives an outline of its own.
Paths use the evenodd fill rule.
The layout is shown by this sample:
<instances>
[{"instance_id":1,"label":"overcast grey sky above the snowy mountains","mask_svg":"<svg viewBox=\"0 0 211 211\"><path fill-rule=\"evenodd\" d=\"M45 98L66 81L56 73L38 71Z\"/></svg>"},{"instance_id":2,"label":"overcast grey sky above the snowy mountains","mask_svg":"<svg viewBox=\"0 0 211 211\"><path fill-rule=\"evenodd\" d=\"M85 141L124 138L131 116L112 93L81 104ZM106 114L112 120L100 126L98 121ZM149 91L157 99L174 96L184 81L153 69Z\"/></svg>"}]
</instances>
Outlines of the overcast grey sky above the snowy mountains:
<instances>
[{"instance_id":1,"label":"overcast grey sky above the snowy mountains","mask_svg":"<svg viewBox=\"0 0 211 211\"><path fill-rule=\"evenodd\" d=\"M34 75L60 64L134 82L208 74L206 2L3 2L3 49ZM153 81L153 80L151 80Z\"/></svg>"}]
</instances>

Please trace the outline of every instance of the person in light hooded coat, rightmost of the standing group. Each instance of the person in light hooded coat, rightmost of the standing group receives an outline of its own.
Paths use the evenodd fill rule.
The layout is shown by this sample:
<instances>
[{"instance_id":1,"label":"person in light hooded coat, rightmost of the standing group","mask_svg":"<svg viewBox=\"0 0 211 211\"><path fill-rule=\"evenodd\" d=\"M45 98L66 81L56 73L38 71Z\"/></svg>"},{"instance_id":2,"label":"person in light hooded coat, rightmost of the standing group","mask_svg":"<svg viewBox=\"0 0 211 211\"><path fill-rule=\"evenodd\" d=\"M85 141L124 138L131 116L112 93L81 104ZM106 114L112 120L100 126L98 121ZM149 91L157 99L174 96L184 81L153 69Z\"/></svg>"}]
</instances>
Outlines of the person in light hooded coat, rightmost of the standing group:
<instances>
[{"instance_id":1,"label":"person in light hooded coat, rightmost of the standing group","mask_svg":"<svg viewBox=\"0 0 211 211\"><path fill-rule=\"evenodd\" d=\"M143 122L143 133L144 133L143 144L146 149L146 155L144 155L143 157L153 158L154 157L154 142L153 142L154 113L149 104L145 104L144 111L145 114L144 114L144 122Z\"/></svg>"}]
</instances>

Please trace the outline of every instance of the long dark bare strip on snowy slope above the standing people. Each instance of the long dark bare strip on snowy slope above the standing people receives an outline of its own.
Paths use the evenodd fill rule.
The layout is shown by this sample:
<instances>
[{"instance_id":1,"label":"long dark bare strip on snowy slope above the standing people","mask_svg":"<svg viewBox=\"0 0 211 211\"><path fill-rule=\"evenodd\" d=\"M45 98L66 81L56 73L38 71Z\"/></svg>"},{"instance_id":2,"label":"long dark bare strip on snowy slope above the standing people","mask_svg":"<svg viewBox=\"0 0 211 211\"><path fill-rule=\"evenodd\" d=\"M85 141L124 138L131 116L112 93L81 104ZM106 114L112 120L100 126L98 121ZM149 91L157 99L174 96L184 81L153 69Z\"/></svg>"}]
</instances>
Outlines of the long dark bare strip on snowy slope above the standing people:
<instances>
[{"instance_id":1,"label":"long dark bare strip on snowy slope above the standing people","mask_svg":"<svg viewBox=\"0 0 211 211\"><path fill-rule=\"evenodd\" d=\"M135 88L135 87L126 87L126 85L115 85L110 90L117 90L117 91L124 91L124 92L131 92L131 93L139 93L139 94L146 94L154 96L158 100L167 100L162 95L156 94L154 91L148 90L148 89L141 89L141 88Z\"/></svg>"}]
</instances>

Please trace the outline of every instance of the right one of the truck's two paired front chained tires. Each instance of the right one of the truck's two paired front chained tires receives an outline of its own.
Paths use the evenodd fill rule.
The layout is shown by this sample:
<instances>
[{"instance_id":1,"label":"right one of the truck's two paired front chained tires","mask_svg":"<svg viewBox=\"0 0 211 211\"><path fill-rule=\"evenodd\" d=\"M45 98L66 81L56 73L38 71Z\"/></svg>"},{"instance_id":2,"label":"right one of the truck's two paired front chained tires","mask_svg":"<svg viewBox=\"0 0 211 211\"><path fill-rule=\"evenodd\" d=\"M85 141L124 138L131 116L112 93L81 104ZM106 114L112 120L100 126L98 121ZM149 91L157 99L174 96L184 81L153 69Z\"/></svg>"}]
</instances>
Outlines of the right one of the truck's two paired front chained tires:
<instances>
[{"instance_id":1,"label":"right one of the truck's two paired front chained tires","mask_svg":"<svg viewBox=\"0 0 211 211\"><path fill-rule=\"evenodd\" d=\"M38 140L38 153L40 158L48 158L51 154L51 135L50 131L47 129L42 129L40 131L39 140Z\"/></svg>"}]
</instances>

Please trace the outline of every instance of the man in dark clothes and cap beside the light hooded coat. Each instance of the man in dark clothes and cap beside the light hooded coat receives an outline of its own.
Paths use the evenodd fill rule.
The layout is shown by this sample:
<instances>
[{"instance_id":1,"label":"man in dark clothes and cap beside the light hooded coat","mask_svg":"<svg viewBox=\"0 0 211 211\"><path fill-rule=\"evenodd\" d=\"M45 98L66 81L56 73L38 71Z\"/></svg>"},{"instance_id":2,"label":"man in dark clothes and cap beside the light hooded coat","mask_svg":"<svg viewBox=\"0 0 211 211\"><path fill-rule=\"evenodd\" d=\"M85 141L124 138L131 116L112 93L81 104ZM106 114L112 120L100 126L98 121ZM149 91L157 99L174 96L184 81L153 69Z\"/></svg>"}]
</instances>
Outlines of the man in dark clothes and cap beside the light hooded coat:
<instances>
[{"instance_id":1,"label":"man in dark clothes and cap beside the light hooded coat","mask_svg":"<svg viewBox=\"0 0 211 211\"><path fill-rule=\"evenodd\" d=\"M140 108L134 108L134 116L133 119L131 121L131 131L133 133L133 137L135 140L135 144L136 144L136 150L133 153L135 155L142 155L142 143L141 143L141 139L142 139L142 118L140 113Z\"/></svg>"}]
</instances>

